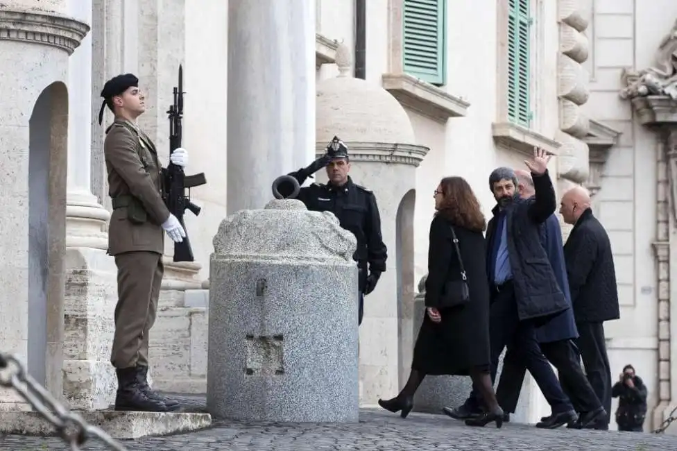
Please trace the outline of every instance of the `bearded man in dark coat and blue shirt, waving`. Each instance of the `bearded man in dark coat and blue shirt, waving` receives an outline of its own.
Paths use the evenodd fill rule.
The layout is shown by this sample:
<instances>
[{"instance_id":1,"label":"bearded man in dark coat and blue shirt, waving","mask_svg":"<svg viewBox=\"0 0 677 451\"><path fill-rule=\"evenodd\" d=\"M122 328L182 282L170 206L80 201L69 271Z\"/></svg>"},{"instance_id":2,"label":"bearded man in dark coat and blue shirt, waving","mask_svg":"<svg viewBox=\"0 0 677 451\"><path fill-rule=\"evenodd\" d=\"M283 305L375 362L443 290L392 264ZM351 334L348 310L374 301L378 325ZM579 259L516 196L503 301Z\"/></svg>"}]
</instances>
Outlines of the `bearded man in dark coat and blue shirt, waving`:
<instances>
[{"instance_id":1,"label":"bearded man in dark coat and blue shirt, waving","mask_svg":"<svg viewBox=\"0 0 677 451\"><path fill-rule=\"evenodd\" d=\"M489 188L497 201L487 228L487 273L492 298L490 306L490 347L492 379L499 356L508 343L520 350L526 369L533 375L552 409L547 421L537 427L554 428L575 423L578 415L562 390L549 361L543 355L536 328L571 308L560 289L545 249L540 244L540 226L556 210L556 198L548 175L550 155L535 149L533 160L525 161L531 171L534 196L517 194L517 177L510 168L495 169ZM560 371L574 372L572 359L558 361ZM452 418L481 418L479 394L455 409L443 411ZM479 420L479 418L477 418Z\"/></svg>"}]
</instances>

